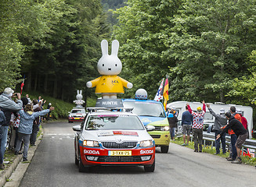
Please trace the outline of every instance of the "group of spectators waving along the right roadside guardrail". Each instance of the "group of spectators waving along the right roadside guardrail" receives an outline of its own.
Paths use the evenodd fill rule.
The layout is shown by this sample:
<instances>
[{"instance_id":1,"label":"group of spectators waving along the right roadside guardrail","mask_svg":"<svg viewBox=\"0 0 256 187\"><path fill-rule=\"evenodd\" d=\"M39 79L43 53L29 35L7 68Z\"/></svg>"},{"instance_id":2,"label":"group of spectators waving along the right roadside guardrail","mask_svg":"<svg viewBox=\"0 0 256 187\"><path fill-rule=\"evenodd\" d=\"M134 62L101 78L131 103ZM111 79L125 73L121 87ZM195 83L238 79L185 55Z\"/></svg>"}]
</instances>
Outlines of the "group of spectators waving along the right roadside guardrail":
<instances>
[{"instance_id":1,"label":"group of spectators waving along the right roadside guardrail","mask_svg":"<svg viewBox=\"0 0 256 187\"><path fill-rule=\"evenodd\" d=\"M186 104L186 111L182 113L182 134L183 143L182 146L189 145L189 134L193 134L194 152L202 152L203 144L203 128L204 128L204 115L206 112L206 106L210 111L210 114L215 117L215 122L212 127L212 131L215 132L215 154L220 154L220 145L222 142L222 153L226 153L225 135L229 133L231 143L229 145L229 156L226 157L227 161L231 161L233 164L241 164L241 149L248 136L247 119L243 117L240 108L234 106L230 107L229 111L225 112L223 108L220 109L220 113L216 114L211 109L210 104L205 104L202 101L203 109L197 108L197 111L193 111L189 103ZM175 109L169 109L167 114L175 114ZM173 132L175 131L171 118L174 115L168 115L168 121L170 125L171 139L173 138ZM187 140L187 143L186 143Z\"/></svg>"}]
</instances>

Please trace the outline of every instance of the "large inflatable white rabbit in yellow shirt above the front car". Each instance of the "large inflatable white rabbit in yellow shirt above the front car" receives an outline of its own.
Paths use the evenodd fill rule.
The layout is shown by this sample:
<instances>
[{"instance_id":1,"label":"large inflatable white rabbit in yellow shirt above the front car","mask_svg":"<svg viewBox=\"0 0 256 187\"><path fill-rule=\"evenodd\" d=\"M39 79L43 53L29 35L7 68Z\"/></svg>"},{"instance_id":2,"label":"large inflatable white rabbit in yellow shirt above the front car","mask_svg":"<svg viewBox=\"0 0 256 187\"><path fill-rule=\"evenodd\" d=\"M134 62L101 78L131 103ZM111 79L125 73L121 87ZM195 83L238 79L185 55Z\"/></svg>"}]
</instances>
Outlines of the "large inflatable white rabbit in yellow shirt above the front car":
<instances>
[{"instance_id":1,"label":"large inflatable white rabbit in yellow shirt above the front car","mask_svg":"<svg viewBox=\"0 0 256 187\"><path fill-rule=\"evenodd\" d=\"M122 70L121 60L117 57L119 42L112 41L111 55L108 54L108 43L101 41L103 56L99 59L97 68L102 75L86 83L88 87L95 87L96 94L102 94L103 99L117 98L117 94L124 94L124 87L132 88L132 83L117 76Z\"/></svg>"}]
</instances>

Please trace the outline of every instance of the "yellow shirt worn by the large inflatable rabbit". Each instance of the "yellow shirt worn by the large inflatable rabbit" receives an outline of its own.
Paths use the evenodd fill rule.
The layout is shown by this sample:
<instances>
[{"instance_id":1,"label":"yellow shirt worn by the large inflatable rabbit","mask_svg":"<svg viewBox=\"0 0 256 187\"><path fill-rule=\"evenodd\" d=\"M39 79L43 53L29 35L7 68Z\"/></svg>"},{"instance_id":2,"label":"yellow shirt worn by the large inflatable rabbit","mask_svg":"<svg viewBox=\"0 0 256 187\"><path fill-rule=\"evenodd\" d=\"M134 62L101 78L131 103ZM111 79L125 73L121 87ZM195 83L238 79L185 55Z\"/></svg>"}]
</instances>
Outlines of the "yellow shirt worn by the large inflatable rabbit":
<instances>
[{"instance_id":1,"label":"yellow shirt worn by the large inflatable rabbit","mask_svg":"<svg viewBox=\"0 0 256 187\"><path fill-rule=\"evenodd\" d=\"M91 80L92 87L96 86L95 93L117 93L124 94L124 87L127 88L128 81L120 76L99 76Z\"/></svg>"}]
</instances>

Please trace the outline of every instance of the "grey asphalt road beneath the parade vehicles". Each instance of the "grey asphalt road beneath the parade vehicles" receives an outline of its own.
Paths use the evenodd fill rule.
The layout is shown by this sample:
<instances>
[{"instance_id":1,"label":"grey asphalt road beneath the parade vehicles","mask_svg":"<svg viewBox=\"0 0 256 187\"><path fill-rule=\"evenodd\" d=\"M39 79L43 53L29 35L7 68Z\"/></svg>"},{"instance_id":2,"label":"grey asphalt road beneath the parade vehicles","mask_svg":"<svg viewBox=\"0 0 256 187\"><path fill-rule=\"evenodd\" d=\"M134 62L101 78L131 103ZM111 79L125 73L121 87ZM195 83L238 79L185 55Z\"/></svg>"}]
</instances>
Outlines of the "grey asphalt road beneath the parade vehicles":
<instances>
[{"instance_id":1,"label":"grey asphalt road beneath the parade vehicles","mask_svg":"<svg viewBox=\"0 0 256 187\"><path fill-rule=\"evenodd\" d=\"M27 186L256 186L256 170L246 164L231 164L225 158L194 153L170 144L169 153L157 148L156 170L142 167L93 168L79 173L74 164L74 132L78 123L56 122L44 125L44 136L20 183Z\"/></svg>"}]
</instances>

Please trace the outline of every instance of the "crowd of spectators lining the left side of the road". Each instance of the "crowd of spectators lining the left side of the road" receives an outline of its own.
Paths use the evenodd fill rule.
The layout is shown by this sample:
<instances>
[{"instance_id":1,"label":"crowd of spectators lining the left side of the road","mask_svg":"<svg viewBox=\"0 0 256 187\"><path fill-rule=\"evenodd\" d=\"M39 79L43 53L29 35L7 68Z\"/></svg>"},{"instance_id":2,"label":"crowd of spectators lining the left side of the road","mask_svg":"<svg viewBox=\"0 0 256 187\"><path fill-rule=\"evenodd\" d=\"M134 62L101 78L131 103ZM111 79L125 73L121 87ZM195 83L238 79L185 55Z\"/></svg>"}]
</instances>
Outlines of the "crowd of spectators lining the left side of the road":
<instances>
[{"instance_id":1,"label":"crowd of spectators lining the left side of the road","mask_svg":"<svg viewBox=\"0 0 256 187\"><path fill-rule=\"evenodd\" d=\"M21 97L20 93L14 93L10 87L0 94L0 169L5 168L7 146L14 154L23 154L23 161L27 161L29 144L35 146L40 116L45 118L54 110L51 104L43 110L45 103L41 96L31 100L28 94Z\"/></svg>"}]
</instances>

